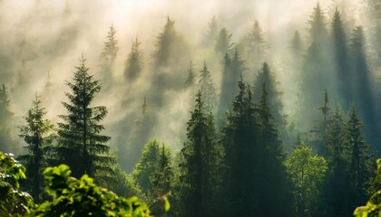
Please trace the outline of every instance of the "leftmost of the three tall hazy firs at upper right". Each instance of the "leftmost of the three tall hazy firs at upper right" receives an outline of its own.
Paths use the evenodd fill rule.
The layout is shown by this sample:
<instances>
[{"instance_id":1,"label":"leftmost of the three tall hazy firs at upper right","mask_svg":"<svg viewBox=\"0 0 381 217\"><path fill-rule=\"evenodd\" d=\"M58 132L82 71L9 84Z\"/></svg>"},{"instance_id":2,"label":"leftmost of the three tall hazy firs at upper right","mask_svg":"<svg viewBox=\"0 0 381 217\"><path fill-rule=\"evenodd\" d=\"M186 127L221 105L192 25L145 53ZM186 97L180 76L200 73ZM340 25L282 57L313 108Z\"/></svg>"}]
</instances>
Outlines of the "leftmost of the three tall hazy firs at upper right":
<instances>
[{"instance_id":1,"label":"leftmost of the three tall hazy firs at upper right","mask_svg":"<svg viewBox=\"0 0 381 217\"><path fill-rule=\"evenodd\" d=\"M314 120L318 119L318 113L314 112L321 101L321 90L327 89L333 97L334 85L332 80L332 63L327 59L329 43L327 40L327 18L318 3L308 19L307 53L302 61L302 71L300 74L299 96L301 97L301 107L299 116L303 121L298 125L304 130L309 130Z\"/></svg>"}]
</instances>

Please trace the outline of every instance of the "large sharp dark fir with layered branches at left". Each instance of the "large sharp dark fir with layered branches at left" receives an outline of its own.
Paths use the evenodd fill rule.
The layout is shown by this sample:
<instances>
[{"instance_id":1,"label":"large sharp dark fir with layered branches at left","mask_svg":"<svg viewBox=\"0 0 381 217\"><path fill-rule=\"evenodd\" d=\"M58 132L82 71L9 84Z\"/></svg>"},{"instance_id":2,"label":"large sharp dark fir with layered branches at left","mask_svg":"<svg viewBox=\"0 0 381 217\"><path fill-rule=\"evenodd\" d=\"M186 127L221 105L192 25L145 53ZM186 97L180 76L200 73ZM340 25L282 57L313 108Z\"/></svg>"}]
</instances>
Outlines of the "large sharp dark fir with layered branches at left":
<instances>
[{"instance_id":1,"label":"large sharp dark fir with layered branches at left","mask_svg":"<svg viewBox=\"0 0 381 217\"><path fill-rule=\"evenodd\" d=\"M69 102L62 102L67 115L60 115L58 123L58 156L61 163L69 165L73 176L87 174L99 184L112 181L112 164L115 158L106 143L111 137L103 136L100 121L107 115L104 106L92 107L95 94L101 91L99 80L88 73L86 60L75 67L73 81L66 81L71 92L65 95Z\"/></svg>"}]
</instances>

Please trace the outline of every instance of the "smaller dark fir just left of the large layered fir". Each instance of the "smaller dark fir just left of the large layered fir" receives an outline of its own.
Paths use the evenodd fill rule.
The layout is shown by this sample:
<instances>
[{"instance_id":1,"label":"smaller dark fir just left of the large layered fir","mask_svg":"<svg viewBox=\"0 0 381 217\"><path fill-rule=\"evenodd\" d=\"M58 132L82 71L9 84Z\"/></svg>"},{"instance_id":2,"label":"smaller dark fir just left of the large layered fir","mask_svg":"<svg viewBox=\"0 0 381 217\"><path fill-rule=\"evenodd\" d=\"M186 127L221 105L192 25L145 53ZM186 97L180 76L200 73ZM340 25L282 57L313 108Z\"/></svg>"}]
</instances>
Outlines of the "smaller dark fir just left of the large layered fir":
<instances>
[{"instance_id":1,"label":"smaller dark fir just left of the large layered fir","mask_svg":"<svg viewBox=\"0 0 381 217\"><path fill-rule=\"evenodd\" d=\"M30 191L36 203L43 202L44 177L43 172L49 165L49 153L52 153L52 136L54 125L44 116L47 112L41 106L40 96L36 95L33 107L29 109L24 121L26 125L20 127L20 137L26 146L26 153L18 159L26 168L24 189Z\"/></svg>"}]
</instances>

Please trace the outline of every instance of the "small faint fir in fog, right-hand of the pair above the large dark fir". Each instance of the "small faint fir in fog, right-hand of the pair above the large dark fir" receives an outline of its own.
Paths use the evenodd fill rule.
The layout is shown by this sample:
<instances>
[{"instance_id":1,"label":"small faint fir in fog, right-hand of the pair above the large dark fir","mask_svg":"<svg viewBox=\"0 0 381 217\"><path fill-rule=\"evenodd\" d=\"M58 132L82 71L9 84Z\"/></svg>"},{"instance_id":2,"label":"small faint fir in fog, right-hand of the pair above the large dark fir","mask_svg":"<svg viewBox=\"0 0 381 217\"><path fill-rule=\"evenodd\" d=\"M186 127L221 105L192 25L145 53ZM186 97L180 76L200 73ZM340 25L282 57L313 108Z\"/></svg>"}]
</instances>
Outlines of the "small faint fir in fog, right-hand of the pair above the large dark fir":
<instances>
[{"instance_id":1,"label":"small faint fir in fog, right-hand of the pair above the large dark fir","mask_svg":"<svg viewBox=\"0 0 381 217\"><path fill-rule=\"evenodd\" d=\"M131 52L125 64L124 78L126 80L136 80L142 72L144 62L143 53L139 48L140 45L141 42L139 42L136 37L135 40L132 41Z\"/></svg>"}]
</instances>

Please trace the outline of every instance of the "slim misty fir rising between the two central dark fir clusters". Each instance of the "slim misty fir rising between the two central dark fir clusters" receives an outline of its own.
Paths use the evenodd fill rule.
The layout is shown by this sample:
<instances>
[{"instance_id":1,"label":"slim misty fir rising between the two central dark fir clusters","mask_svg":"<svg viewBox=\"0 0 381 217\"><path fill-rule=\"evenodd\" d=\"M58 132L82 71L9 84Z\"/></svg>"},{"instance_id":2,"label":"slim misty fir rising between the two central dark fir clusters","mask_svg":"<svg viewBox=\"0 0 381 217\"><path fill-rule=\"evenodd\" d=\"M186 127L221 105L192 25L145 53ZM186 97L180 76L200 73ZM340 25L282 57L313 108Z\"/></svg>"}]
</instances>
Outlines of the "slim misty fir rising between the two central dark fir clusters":
<instances>
[{"instance_id":1,"label":"slim misty fir rising between the two central dark fir clusters","mask_svg":"<svg viewBox=\"0 0 381 217\"><path fill-rule=\"evenodd\" d=\"M216 106L216 90L214 90L214 83L211 80L206 61L204 61L204 66L200 71L199 85L205 110L207 112L213 111Z\"/></svg>"}]
</instances>

